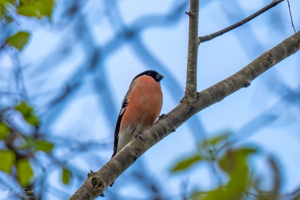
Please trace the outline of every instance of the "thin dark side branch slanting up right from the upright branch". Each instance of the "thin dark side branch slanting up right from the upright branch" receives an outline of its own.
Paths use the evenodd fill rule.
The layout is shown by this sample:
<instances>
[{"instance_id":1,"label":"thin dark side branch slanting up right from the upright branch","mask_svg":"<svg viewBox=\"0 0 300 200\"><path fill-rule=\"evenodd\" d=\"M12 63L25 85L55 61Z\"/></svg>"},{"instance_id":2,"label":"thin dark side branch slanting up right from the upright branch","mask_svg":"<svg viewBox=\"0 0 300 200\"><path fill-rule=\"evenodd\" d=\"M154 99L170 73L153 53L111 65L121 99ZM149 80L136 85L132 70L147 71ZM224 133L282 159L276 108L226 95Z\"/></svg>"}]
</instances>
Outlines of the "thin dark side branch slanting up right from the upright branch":
<instances>
[{"instance_id":1,"label":"thin dark side branch slanting up right from the upright branch","mask_svg":"<svg viewBox=\"0 0 300 200\"><path fill-rule=\"evenodd\" d=\"M249 20L255 18L256 16L262 14L263 12L267 11L268 9L274 7L275 5L277 5L278 3L282 2L284 0L272 0L272 2L270 2L268 5L266 5L265 7L261 8L260 10L258 10L257 12L254 12L253 14L251 14L250 16L238 21L237 23L234 23L224 29L221 29L217 32L214 32L212 34L209 34L209 35L205 35L205 36L200 36L199 37L199 44L201 42L204 42L204 41L209 41L210 39L213 39L217 36L220 36L234 28L237 28L238 26L241 26L242 24L248 22Z\"/></svg>"}]
</instances>

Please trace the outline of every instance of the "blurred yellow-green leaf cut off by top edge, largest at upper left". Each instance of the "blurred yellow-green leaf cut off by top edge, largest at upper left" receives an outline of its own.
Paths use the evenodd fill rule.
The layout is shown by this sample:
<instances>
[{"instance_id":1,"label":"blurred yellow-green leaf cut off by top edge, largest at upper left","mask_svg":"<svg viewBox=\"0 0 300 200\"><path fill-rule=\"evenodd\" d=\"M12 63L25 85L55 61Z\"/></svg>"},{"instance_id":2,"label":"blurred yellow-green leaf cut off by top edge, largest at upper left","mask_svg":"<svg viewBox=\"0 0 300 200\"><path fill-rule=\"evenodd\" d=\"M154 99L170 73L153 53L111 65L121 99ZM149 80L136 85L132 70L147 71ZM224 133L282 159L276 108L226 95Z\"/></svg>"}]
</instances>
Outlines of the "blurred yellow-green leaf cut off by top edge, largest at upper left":
<instances>
[{"instance_id":1,"label":"blurred yellow-green leaf cut off by top edge, largest at upper left","mask_svg":"<svg viewBox=\"0 0 300 200\"><path fill-rule=\"evenodd\" d=\"M36 16L41 18L42 16L51 17L54 0L35 0L30 4L30 0L24 0L26 3L22 3L19 6L18 14L24 16Z\"/></svg>"}]
</instances>

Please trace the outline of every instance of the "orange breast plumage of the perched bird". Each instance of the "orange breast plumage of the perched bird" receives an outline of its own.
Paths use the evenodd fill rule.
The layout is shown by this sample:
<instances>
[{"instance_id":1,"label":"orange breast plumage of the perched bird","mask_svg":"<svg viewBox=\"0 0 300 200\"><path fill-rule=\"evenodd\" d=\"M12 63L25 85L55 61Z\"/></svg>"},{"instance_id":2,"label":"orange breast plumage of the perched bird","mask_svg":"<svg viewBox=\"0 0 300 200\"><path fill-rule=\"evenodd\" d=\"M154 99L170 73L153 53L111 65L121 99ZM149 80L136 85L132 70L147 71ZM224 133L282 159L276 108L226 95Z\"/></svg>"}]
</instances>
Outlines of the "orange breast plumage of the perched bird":
<instances>
[{"instance_id":1,"label":"orange breast plumage of the perched bird","mask_svg":"<svg viewBox=\"0 0 300 200\"><path fill-rule=\"evenodd\" d=\"M127 126L145 128L152 125L161 110L162 92L159 82L150 76L142 75L133 80L132 86L120 131Z\"/></svg>"}]
</instances>

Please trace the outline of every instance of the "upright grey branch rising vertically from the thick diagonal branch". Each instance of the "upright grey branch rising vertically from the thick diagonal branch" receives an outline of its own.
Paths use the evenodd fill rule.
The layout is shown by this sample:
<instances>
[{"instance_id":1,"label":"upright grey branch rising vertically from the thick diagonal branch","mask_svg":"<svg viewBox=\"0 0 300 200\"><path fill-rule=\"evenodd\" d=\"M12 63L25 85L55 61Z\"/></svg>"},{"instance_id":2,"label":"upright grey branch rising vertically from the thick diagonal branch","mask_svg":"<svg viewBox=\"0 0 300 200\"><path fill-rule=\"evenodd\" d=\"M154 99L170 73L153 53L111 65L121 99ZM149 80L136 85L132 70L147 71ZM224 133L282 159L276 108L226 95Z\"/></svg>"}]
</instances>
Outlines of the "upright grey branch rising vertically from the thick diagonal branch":
<instances>
[{"instance_id":1,"label":"upright grey branch rising vertically from the thick diagonal branch","mask_svg":"<svg viewBox=\"0 0 300 200\"><path fill-rule=\"evenodd\" d=\"M199 0L190 0L185 97L194 97L197 89Z\"/></svg>"}]
</instances>

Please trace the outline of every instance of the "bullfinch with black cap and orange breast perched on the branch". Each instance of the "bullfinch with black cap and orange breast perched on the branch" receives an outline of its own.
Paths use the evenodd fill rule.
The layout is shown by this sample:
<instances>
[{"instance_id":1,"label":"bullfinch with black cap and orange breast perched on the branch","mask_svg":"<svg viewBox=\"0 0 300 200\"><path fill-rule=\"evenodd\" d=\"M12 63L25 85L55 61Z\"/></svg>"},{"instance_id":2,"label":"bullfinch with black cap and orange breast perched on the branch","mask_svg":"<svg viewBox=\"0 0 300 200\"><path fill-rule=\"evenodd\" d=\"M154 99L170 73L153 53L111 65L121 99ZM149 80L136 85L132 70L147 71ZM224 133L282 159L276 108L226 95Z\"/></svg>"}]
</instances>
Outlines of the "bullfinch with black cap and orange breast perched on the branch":
<instances>
[{"instance_id":1,"label":"bullfinch with black cap and orange breast perched on the branch","mask_svg":"<svg viewBox=\"0 0 300 200\"><path fill-rule=\"evenodd\" d=\"M137 133L152 125L162 107L159 81L163 75L155 70L137 74L122 101L115 130L111 158L129 143ZM113 182L110 184L112 186Z\"/></svg>"}]
</instances>

